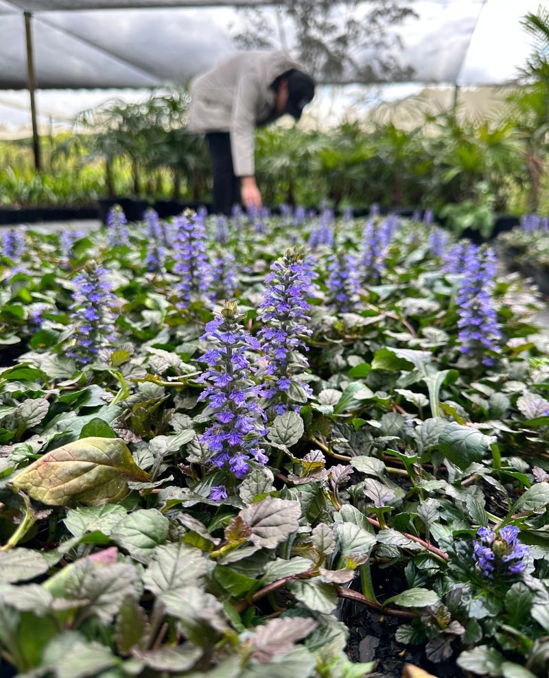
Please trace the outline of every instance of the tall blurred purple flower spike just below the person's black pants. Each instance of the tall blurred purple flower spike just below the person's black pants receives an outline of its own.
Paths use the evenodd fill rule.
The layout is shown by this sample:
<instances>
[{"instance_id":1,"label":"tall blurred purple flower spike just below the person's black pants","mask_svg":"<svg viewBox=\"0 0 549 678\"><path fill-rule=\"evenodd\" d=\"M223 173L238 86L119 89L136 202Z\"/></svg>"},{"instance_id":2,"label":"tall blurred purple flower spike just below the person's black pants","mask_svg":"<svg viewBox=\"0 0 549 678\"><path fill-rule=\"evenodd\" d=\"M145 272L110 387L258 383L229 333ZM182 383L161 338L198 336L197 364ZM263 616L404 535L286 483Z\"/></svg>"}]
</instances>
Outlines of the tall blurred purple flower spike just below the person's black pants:
<instances>
[{"instance_id":1,"label":"tall blurred purple flower spike just below the person's black pants","mask_svg":"<svg viewBox=\"0 0 549 678\"><path fill-rule=\"evenodd\" d=\"M174 272L180 275L176 287L177 306L185 309L193 301L205 299L209 288L204 216L187 211L174 221L174 226Z\"/></svg>"}]
</instances>

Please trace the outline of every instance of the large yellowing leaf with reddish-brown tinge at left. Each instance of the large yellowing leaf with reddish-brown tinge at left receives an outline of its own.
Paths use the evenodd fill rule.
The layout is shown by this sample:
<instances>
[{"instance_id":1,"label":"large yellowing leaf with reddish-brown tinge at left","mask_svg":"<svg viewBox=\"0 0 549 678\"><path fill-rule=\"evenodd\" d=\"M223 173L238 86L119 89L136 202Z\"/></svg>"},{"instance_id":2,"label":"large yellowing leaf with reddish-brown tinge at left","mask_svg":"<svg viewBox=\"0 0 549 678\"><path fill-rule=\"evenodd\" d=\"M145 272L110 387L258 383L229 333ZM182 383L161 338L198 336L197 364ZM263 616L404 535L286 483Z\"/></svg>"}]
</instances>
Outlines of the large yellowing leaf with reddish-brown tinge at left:
<instances>
[{"instance_id":1,"label":"large yellowing leaf with reddish-brown tinge at left","mask_svg":"<svg viewBox=\"0 0 549 678\"><path fill-rule=\"evenodd\" d=\"M50 506L79 502L90 506L114 503L128 493L128 480L148 476L119 439L84 438L62 445L36 460L12 484Z\"/></svg>"}]
</instances>

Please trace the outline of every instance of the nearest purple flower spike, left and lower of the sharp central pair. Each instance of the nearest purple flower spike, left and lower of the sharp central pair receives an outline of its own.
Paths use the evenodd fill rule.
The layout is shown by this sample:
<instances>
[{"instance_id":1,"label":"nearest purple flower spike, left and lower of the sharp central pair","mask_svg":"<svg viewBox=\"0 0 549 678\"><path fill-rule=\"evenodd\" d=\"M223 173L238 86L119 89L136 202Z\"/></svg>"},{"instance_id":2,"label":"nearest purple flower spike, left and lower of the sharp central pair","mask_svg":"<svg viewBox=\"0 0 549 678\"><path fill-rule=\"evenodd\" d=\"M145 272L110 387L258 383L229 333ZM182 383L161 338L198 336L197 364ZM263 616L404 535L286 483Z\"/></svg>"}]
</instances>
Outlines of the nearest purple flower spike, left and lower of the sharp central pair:
<instances>
[{"instance_id":1,"label":"nearest purple flower spike, left and lower of the sharp central pair","mask_svg":"<svg viewBox=\"0 0 549 678\"><path fill-rule=\"evenodd\" d=\"M246 475L252 458L266 463L266 456L257 454L257 443L266 434L266 417L257 401L259 387L253 380L257 358L250 353L260 344L244 330L240 320L237 304L231 301L206 325L202 339L209 345L199 360L207 363L208 369L197 379L207 385L199 399L208 402L213 415L213 423L200 436L200 442L209 446L213 465L231 471L236 478Z\"/></svg>"}]
</instances>

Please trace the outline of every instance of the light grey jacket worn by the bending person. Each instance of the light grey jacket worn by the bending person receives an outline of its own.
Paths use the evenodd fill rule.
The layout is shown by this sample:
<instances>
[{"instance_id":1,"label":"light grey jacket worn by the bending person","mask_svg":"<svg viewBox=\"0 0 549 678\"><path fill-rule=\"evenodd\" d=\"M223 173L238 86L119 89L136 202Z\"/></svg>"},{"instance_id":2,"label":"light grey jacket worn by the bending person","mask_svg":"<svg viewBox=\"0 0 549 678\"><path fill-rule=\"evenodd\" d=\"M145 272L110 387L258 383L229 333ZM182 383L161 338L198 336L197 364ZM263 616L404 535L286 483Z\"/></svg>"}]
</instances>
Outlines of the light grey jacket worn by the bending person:
<instances>
[{"instance_id":1,"label":"light grey jacket worn by the bending person","mask_svg":"<svg viewBox=\"0 0 549 678\"><path fill-rule=\"evenodd\" d=\"M255 174L255 128L279 117L270 85L290 69L303 67L284 51L246 51L191 85L187 129L196 134L230 132L235 176Z\"/></svg>"}]
</instances>

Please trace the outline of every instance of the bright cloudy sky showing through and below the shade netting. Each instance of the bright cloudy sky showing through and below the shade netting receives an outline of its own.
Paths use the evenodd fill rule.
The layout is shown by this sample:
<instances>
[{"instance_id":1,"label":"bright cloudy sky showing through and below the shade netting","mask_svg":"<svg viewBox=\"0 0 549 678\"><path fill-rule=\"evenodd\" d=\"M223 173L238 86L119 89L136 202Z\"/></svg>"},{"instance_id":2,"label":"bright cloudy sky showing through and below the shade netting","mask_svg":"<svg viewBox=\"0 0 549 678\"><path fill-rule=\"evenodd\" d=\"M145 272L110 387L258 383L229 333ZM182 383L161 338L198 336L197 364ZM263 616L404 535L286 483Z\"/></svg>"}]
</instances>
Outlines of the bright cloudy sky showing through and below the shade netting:
<instances>
[{"instance_id":1,"label":"bright cloudy sky showing through and below the shade netting","mask_svg":"<svg viewBox=\"0 0 549 678\"><path fill-rule=\"evenodd\" d=\"M520 18L538 5L539 0L412 0L419 18L394 29L402 43L399 60L412 65L414 79L421 82L457 80L464 86L505 82L515 76L530 51ZM184 81L234 51L232 38L243 21L242 12L233 8L36 14L38 82L57 78L98 87L120 82L146 86L166 78ZM284 19L283 25L291 39L291 26ZM3 34L7 39L1 39ZM369 58L367 45L360 56ZM22 82L25 73L23 21L9 0L0 0L0 73L14 82L17 78ZM357 101L376 103L420 90L417 83L373 89L326 87L315 97L313 108L317 117L337 121ZM40 126L48 128L51 118L56 130L84 108L115 96L135 100L144 95L142 90L40 90ZM0 91L0 135L2 130L3 136L28 130L28 106L26 91Z\"/></svg>"}]
</instances>

